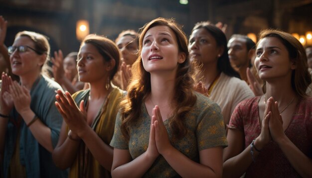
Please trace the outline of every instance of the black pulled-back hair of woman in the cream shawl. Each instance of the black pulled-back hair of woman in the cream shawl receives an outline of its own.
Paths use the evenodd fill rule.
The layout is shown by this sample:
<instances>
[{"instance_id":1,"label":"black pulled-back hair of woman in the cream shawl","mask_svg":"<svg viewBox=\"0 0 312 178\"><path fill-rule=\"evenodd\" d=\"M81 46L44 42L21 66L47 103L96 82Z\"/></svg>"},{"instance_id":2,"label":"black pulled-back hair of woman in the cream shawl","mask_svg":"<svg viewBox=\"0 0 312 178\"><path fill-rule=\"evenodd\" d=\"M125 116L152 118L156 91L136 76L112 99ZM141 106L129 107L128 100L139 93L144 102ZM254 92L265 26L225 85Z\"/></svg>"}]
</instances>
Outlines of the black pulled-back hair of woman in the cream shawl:
<instances>
[{"instance_id":1,"label":"black pulled-back hair of woman in the cream shawl","mask_svg":"<svg viewBox=\"0 0 312 178\"><path fill-rule=\"evenodd\" d=\"M199 28L204 28L205 30L207 30L207 32L210 33L216 40L217 46L224 49L217 62L218 71L223 72L230 77L240 78L239 74L232 68L230 64L230 59L227 53L227 39L223 31L216 27L214 24L211 24L209 21L196 23L192 29L192 32Z\"/></svg>"}]
</instances>

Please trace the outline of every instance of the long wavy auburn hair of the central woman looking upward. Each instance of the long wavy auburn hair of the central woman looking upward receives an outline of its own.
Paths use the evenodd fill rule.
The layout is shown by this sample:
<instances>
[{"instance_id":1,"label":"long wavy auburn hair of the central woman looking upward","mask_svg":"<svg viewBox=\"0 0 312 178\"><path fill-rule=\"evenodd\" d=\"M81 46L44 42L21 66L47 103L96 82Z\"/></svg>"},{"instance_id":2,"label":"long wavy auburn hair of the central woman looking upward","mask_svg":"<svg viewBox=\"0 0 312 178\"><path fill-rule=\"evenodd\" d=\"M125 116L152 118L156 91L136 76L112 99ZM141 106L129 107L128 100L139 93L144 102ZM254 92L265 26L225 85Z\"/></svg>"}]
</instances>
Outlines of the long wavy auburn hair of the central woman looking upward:
<instances>
[{"instance_id":1,"label":"long wavy auburn hair of the central woman looking upward","mask_svg":"<svg viewBox=\"0 0 312 178\"><path fill-rule=\"evenodd\" d=\"M175 34L179 52L186 55L183 63L178 64L174 86L174 101L172 102L173 115L169 120L169 129L177 139L183 137L187 130L183 124L186 114L196 102L193 93L194 80L191 76L192 65L188 57L187 37L173 19L156 18L141 28L139 39L139 54L142 52L143 39L147 31L155 26L167 26ZM128 87L128 95L121 102L122 124L121 130L125 138L129 139L129 127L141 116L141 107L144 100L151 93L151 75L143 67L141 55L132 66L133 77Z\"/></svg>"}]
</instances>

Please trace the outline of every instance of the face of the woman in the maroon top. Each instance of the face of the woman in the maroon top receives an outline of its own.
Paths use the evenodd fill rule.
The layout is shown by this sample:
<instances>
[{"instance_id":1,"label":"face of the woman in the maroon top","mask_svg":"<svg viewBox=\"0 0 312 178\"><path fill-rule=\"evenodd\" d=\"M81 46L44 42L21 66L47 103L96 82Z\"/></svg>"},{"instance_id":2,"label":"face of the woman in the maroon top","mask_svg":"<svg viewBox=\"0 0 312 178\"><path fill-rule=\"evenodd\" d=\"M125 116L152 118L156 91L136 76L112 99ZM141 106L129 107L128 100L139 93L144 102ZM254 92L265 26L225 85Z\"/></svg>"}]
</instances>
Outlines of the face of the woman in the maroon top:
<instances>
[{"instance_id":1,"label":"face of the woman in the maroon top","mask_svg":"<svg viewBox=\"0 0 312 178\"><path fill-rule=\"evenodd\" d=\"M255 66L260 79L280 80L289 77L296 69L290 60L289 52L284 44L276 37L265 37L258 43L256 49Z\"/></svg>"}]
</instances>

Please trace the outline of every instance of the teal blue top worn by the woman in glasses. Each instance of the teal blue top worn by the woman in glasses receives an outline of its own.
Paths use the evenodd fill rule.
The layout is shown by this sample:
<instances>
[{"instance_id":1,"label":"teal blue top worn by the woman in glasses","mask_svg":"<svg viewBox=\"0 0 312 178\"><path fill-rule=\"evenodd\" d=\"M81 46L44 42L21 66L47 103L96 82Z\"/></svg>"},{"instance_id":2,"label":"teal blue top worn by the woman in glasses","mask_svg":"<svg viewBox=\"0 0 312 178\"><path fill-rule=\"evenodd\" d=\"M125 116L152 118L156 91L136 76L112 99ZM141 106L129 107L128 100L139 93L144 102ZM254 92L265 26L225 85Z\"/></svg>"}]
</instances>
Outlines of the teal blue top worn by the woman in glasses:
<instances>
[{"instance_id":1,"label":"teal blue top worn by the woman in glasses","mask_svg":"<svg viewBox=\"0 0 312 178\"><path fill-rule=\"evenodd\" d=\"M63 118L55 106L56 90L61 87L47 77L41 76L32 86L31 110L41 122L51 129L53 148L56 146ZM5 133L3 158L3 175L7 178L9 163L13 155L17 138L17 128L14 124L20 115L15 109L10 113L10 120ZM25 166L27 178L66 178L67 171L56 168L52 161L52 154L43 148L32 135L25 122L21 119L19 140L20 164Z\"/></svg>"}]
</instances>

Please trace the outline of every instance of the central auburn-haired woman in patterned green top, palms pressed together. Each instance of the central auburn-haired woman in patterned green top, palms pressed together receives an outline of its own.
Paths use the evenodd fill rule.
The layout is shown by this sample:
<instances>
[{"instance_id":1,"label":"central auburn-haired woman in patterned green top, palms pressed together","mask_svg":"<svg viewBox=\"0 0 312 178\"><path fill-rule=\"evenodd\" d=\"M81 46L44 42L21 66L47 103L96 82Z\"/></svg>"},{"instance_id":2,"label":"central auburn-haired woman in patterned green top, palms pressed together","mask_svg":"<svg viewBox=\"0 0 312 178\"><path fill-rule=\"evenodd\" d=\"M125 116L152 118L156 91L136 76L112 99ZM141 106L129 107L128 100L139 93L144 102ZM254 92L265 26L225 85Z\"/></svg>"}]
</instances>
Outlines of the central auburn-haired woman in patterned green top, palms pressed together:
<instances>
[{"instance_id":1,"label":"central auburn-haired woman in patterned green top, palms pressed together","mask_svg":"<svg viewBox=\"0 0 312 178\"><path fill-rule=\"evenodd\" d=\"M139 45L111 142L112 176L222 177L221 110L193 91L184 32L157 18L143 27Z\"/></svg>"}]
</instances>

